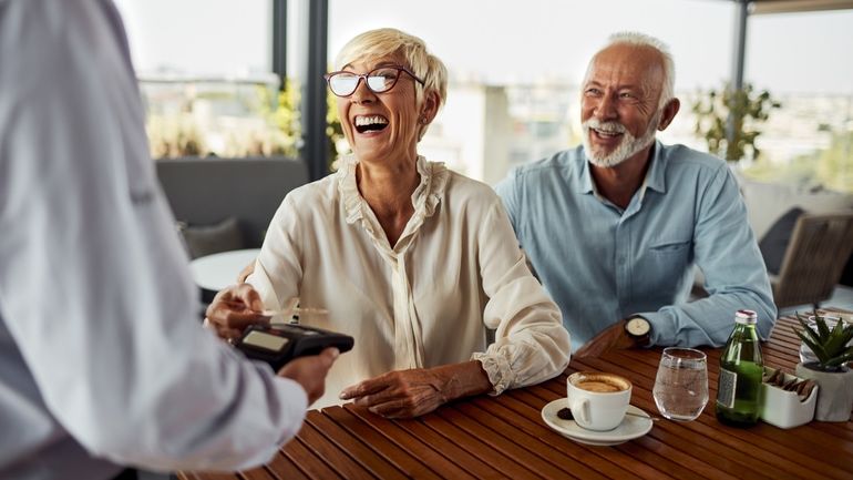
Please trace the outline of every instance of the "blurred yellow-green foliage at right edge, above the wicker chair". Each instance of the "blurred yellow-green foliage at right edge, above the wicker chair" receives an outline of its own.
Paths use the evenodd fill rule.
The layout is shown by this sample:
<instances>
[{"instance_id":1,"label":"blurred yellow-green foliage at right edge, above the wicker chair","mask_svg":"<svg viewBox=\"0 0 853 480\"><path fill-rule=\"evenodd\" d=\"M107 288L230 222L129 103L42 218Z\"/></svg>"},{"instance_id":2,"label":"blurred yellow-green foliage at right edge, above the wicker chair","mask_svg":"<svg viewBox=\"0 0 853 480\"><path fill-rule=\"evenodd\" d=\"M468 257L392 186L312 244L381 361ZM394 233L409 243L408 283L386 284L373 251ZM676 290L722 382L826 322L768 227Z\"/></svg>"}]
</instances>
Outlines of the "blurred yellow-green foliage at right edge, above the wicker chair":
<instances>
[{"instance_id":1,"label":"blurred yellow-green foliage at right edge, above the wicker chair","mask_svg":"<svg viewBox=\"0 0 853 480\"><path fill-rule=\"evenodd\" d=\"M853 132L834 133L826 150L800 155L787 165L759 162L742 173L753 180L793 184L803 190L853 192Z\"/></svg>"}]
</instances>

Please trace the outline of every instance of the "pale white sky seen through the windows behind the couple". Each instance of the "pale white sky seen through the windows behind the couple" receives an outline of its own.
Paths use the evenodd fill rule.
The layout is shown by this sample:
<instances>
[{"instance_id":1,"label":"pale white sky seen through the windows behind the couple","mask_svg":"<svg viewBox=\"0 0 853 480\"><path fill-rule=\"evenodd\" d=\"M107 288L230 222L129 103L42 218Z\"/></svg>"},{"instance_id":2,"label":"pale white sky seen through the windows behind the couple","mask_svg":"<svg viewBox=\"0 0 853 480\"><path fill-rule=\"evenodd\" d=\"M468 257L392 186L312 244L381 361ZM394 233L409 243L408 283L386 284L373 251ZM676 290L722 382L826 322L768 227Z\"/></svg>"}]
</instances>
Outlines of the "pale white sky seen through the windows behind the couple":
<instances>
[{"instance_id":1,"label":"pale white sky seen through the windows behind the couple","mask_svg":"<svg viewBox=\"0 0 853 480\"><path fill-rule=\"evenodd\" d=\"M269 0L116 3L143 75L269 71ZM578 83L608 34L635 30L670 45L677 91L696 90L730 76L734 13L727 0L329 0L329 62L357 33L394 27L421 37L453 79ZM756 86L853 94L853 10L753 16L748 29L746 76ZM290 45L292 61L298 40Z\"/></svg>"}]
</instances>

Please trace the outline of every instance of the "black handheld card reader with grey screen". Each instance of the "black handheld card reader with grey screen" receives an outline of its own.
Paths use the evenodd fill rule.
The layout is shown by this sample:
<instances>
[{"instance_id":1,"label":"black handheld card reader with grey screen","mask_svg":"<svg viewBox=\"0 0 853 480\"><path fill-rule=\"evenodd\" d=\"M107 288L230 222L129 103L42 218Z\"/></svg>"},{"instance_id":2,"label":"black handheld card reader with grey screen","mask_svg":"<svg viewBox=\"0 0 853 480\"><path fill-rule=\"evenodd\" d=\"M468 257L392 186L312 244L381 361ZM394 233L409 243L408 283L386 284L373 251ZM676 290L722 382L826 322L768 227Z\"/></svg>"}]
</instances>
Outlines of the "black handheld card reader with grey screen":
<instances>
[{"instance_id":1,"label":"black handheld card reader with grey screen","mask_svg":"<svg viewBox=\"0 0 853 480\"><path fill-rule=\"evenodd\" d=\"M319 355L325 348L336 347L340 353L352 349L349 335L306 327L304 325L253 325L234 346L247 357L263 360L278 371L297 357Z\"/></svg>"}]
</instances>

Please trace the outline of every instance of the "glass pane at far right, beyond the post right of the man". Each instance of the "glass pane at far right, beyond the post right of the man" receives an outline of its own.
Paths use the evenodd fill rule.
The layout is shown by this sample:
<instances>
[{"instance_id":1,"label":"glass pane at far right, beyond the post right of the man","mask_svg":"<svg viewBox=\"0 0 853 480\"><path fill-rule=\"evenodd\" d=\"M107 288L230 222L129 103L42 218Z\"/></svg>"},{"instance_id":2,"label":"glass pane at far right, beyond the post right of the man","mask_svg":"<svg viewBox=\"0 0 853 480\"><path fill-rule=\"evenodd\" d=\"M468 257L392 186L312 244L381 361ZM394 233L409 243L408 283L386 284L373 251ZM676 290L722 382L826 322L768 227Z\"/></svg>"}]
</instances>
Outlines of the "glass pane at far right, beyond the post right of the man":
<instances>
[{"instance_id":1,"label":"glass pane at far right, beyond the post right of the man","mask_svg":"<svg viewBox=\"0 0 853 480\"><path fill-rule=\"evenodd\" d=\"M804 192L853 192L853 11L753 17L747 76L781 103L744 174ZM791 34L797 32L797 34Z\"/></svg>"}]
</instances>

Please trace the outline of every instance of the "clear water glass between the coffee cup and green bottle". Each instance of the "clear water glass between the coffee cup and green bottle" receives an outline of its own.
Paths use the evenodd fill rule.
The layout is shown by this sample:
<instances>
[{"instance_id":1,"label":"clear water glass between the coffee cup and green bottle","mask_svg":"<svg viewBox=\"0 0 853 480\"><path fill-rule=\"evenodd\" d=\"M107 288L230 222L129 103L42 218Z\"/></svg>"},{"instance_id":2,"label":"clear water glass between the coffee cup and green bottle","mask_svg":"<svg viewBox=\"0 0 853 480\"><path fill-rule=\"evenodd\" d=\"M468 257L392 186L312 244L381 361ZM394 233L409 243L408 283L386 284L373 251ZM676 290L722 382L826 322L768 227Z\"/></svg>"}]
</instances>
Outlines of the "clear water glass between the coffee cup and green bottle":
<instances>
[{"instance_id":1,"label":"clear water glass between the coffee cup and green bottle","mask_svg":"<svg viewBox=\"0 0 853 480\"><path fill-rule=\"evenodd\" d=\"M660 415L679 421L695 420L708 404L708 360L693 348L664 349L652 389Z\"/></svg>"}]
</instances>

